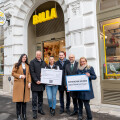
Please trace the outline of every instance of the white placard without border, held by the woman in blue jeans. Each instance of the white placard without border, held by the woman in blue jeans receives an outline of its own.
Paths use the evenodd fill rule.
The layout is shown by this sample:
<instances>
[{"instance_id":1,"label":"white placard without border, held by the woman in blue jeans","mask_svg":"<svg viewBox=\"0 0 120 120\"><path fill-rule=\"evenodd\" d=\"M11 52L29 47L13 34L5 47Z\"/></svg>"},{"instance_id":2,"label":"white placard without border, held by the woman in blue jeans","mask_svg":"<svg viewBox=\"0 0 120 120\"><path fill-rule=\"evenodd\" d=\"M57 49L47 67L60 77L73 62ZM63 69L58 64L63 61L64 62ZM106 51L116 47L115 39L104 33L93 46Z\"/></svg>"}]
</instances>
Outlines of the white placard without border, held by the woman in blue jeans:
<instances>
[{"instance_id":1,"label":"white placard without border, held by the woman in blue jeans","mask_svg":"<svg viewBox=\"0 0 120 120\"><path fill-rule=\"evenodd\" d=\"M41 69L41 83L49 85L62 84L62 70Z\"/></svg>"}]
</instances>

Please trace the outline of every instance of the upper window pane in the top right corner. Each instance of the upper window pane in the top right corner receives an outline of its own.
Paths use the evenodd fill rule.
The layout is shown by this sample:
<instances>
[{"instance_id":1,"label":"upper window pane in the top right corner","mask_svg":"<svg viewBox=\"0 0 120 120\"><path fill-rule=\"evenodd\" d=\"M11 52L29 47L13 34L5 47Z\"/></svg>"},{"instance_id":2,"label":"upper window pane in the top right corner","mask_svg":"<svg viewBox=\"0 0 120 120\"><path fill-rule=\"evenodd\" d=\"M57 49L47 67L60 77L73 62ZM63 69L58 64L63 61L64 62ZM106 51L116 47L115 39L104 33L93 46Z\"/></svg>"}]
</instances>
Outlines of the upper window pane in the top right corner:
<instances>
[{"instance_id":1,"label":"upper window pane in the top right corner","mask_svg":"<svg viewBox=\"0 0 120 120\"><path fill-rule=\"evenodd\" d=\"M108 8L116 7L120 5L120 0L101 0L100 10L105 10Z\"/></svg>"}]
</instances>

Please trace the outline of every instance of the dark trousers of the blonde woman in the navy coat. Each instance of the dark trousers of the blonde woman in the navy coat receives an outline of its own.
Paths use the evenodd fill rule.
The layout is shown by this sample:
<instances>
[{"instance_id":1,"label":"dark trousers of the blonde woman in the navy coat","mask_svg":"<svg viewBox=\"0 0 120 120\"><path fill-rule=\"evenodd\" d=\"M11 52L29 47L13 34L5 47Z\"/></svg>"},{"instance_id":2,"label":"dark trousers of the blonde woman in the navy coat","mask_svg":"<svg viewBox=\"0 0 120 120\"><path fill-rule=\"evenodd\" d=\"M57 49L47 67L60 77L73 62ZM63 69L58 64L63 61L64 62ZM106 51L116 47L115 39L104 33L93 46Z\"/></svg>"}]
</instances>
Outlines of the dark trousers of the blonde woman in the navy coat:
<instances>
[{"instance_id":1,"label":"dark trousers of the blonde woman in the navy coat","mask_svg":"<svg viewBox=\"0 0 120 120\"><path fill-rule=\"evenodd\" d=\"M86 114L87 114L87 119L92 120L92 113L91 113L90 104L89 104L90 100L78 99L78 103L79 103L79 115L82 116L83 114L83 103L84 103Z\"/></svg>"}]
</instances>

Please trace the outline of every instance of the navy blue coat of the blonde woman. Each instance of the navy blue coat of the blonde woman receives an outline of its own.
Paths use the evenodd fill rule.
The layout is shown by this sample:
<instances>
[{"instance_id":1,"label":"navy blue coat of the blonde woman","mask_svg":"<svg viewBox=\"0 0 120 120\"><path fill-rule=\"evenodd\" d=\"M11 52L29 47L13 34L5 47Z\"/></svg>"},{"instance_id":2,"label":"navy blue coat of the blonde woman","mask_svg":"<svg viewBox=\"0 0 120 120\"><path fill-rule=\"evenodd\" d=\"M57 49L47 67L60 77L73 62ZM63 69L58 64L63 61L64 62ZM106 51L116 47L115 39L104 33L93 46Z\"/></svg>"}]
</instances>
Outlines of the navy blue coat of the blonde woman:
<instances>
[{"instance_id":1,"label":"navy blue coat of the blonde woman","mask_svg":"<svg viewBox=\"0 0 120 120\"><path fill-rule=\"evenodd\" d=\"M93 67L90 67L90 68L85 67L83 70L80 70L80 69L77 70L77 74L86 74L86 73L90 73L90 77L89 77L90 91L79 91L78 98L81 100L90 100L94 98L92 80L95 80L97 77Z\"/></svg>"}]
</instances>

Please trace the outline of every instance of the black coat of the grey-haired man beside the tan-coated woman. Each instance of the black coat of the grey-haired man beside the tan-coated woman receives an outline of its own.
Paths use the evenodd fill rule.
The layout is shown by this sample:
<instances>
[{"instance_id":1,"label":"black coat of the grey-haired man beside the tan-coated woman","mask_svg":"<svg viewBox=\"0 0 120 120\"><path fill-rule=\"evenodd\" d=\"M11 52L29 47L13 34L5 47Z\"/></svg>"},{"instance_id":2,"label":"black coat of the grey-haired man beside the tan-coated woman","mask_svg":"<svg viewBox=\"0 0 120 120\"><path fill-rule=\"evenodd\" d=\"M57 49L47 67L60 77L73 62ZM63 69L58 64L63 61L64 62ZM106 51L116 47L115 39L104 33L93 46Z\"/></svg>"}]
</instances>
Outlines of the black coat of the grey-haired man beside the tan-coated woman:
<instances>
[{"instance_id":1,"label":"black coat of the grey-haired man beside the tan-coated woman","mask_svg":"<svg viewBox=\"0 0 120 120\"><path fill-rule=\"evenodd\" d=\"M32 91L44 91L45 85L44 84L36 84L37 81L41 80L41 68L45 68L46 63L41 60L38 61L36 58L30 61L30 74L32 78L31 90Z\"/></svg>"}]
</instances>

